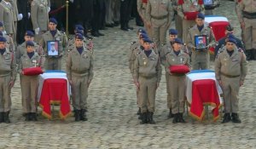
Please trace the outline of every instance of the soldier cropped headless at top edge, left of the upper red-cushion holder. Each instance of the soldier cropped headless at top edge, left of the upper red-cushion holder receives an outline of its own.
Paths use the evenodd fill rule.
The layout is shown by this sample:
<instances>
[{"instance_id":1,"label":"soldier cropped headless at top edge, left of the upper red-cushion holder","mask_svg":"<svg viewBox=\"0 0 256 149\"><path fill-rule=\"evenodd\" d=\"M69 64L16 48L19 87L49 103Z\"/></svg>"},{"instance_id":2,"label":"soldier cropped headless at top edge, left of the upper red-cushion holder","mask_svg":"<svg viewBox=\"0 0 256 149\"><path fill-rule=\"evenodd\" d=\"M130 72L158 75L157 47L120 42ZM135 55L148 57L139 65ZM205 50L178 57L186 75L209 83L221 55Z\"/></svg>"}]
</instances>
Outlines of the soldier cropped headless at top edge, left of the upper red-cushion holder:
<instances>
[{"instance_id":1,"label":"soldier cropped headless at top edge, left of the upper red-cushion holder","mask_svg":"<svg viewBox=\"0 0 256 149\"><path fill-rule=\"evenodd\" d=\"M166 44L166 32L171 25L172 16L173 9L170 0L148 0L146 20L157 48Z\"/></svg>"}]
</instances>

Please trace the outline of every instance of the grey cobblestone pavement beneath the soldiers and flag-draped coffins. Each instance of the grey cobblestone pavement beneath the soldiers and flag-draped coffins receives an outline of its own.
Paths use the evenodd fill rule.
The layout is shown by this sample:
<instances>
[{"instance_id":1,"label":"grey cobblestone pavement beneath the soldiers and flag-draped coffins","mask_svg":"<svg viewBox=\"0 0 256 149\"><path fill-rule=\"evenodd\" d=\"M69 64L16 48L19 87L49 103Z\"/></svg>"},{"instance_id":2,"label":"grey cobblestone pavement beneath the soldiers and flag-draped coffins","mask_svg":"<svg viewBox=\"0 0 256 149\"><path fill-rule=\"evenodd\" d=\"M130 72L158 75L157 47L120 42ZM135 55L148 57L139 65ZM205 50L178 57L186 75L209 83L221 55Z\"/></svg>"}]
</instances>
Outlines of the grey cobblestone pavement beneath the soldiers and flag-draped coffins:
<instances>
[{"instance_id":1,"label":"grey cobblestone pavement beneath the soldiers and flag-draped coffins","mask_svg":"<svg viewBox=\"0 0 256 149\"><path fill-rule=\"evenodd\" d=\"M234 3L223 1L216 14L225 15L240 29ZM134 25L134 21L132 24ZM47 120L39 109L38 122L25 122L21 116L20 82L12 90L12 123L0 124L0 148L256 148L256 61L248 62L248 75L240 92L242 123L197 122L173 124L167 119L166 80L157 90L155 125L140 125L137 119L135 86L128 70L127 50L136 40L136 30L122 32L118 27L102 31L95 42L95 77L90 85L87 122L61 121L58 106L55 118Z\"/></svg>"}]
</instances>

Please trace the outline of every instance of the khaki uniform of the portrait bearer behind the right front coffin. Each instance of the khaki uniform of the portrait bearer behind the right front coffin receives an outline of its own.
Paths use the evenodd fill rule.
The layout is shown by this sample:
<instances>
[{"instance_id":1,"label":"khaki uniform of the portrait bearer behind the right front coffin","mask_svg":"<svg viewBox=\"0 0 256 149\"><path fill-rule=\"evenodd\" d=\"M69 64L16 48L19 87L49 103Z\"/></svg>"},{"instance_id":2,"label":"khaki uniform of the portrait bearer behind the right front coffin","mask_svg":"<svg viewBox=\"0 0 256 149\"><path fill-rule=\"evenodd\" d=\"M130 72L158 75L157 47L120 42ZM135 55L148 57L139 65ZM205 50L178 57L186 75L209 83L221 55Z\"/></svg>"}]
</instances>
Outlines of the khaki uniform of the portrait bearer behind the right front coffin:
<instances>
[{"instance_id":1,"label":"khaki uniform of the portrait bearer behind the right front coffin","mask_svg":"<svg viewBox=\"0 0 256 149\"><path fill-rule=\"evenodd\" d=\"M195 49L195 36L207 36L207 49L197 50ZM189 35L187 37L187 45L189 49L192 49L192 69L200 70L209 68L210 54L208 48L212 47L215 44L215 38L213 36L212 30L210 27L204 25L199 31L197 25L189 29Z\"/></svg>"}]
</instances>

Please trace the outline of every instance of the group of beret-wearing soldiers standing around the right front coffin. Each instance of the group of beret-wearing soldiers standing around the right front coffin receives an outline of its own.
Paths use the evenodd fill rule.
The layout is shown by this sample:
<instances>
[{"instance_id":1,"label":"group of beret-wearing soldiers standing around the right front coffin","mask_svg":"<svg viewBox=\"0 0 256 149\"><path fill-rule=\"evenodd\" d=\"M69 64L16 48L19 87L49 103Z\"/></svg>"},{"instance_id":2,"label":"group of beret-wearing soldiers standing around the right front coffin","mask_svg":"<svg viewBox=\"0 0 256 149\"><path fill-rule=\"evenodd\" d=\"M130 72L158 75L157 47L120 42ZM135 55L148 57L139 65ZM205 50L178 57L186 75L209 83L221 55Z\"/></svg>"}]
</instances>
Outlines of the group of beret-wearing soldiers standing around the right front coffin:
<instances>
[{"instance_id":1,"label":"group of beret-wearing soldiers standing around the right front coffin","mask_svg":"<svg viewBox=\"0 0 256 149\"><path fill-rule=\"evenodd\" d=\"M211 29L204 24L204 14L197 14L196 25L189 29L188 44L183 45L177 38L177 30L169 30L169 41L160 48L150 40L143 29L138 30L138 42L131 44L129 66L134 83L137 87L137 105L141 123L155 123L153 120L156 89L160 83L161 67L166 70L167 106L170 109L168 117L174 117L172 123L184 123L184 90L185 73L188 67L192 70L209 68L210 47L215 46ZM230 25L226 27L230 30ZM206 36L205 45L195 45L196 36ZM153 43L153 44L152 44ZM225 37L223 46L216 56L215 73L218 84L224 91L224 120L241 123L238 117L238 92L247 75L247 60L242 49L237 48L236 38ZM189 56L191 52L191 56ZM190 66L189 59L192 65ZM175 72L172 66L180 66L183 72ZM184 67L185 66L185 67ZM187 66L187 67L186 67ZM173 68L174 69L174 68ZM186 71L185 71L186 70Z\"/></svg>"}]
</instances>

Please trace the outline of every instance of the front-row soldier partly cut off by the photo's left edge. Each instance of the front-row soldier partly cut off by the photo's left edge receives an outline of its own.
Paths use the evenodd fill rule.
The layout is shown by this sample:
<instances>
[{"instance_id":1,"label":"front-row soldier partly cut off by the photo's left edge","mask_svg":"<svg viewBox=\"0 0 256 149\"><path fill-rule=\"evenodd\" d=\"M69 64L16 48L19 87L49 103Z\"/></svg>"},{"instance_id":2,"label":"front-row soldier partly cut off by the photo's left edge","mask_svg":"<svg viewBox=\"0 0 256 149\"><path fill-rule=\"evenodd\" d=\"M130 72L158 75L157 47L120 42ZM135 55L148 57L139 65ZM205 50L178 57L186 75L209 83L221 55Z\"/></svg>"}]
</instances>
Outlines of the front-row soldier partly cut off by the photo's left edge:
<instances>
[{"instance_id":1,"label":"front-row soldier partly cut off by the photo's left edge","mask_svg":"<svg viewBox=\"0 0 256 149\"><path fill-rule=\"evenodd\" d=\"M10 91L14 87L16 80L14 53L5 48L5 43L5 37L0 37L0 123L10 123Z\"/></svg>"}]
</instances>

